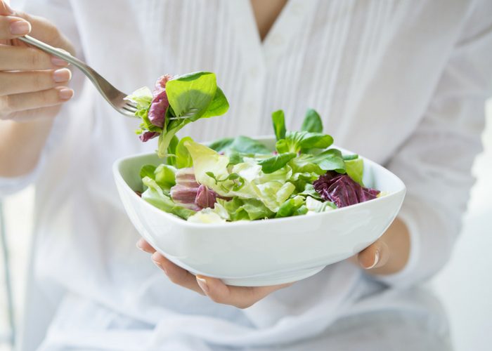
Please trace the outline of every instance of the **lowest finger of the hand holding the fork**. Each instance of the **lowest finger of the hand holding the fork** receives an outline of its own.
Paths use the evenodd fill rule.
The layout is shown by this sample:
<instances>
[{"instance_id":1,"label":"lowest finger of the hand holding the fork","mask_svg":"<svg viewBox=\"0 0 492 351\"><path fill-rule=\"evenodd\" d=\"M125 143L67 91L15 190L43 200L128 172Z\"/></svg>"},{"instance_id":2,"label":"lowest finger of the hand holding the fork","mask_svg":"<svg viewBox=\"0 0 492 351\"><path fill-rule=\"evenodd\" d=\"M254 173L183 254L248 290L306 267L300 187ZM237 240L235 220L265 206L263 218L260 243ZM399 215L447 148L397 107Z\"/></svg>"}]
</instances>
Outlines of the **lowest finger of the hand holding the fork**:
<instances>
[{"instance_id":1,"label":"lowest finger of the hand holding the fork","mask_svg":"<svg viewBox=\"0 0 492 351\"><path fill-rule=\"evenodd\" d=\"M23 110L60 105L73 95L74 91L64 86L35 93L7 95L0 98L0 117L8 117L11 113Z\"/></svg>"}]
</instances>

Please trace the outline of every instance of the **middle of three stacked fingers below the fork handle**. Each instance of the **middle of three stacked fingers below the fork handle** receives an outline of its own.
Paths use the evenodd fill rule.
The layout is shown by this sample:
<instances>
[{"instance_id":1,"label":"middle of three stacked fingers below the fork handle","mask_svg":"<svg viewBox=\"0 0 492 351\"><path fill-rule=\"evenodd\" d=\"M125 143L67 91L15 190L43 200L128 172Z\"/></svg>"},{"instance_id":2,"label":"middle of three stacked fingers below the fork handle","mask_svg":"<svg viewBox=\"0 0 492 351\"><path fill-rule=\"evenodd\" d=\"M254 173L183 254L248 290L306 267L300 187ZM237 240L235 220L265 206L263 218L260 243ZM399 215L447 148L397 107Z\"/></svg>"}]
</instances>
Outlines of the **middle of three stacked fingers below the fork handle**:
<instances>
[{"instance_id":1,"label":"middle of three stacked fingers below the fork handle","mask_svg":"<svg viewBox=\"0 0 492 351\"><path fill-rule=\"evenodd\" d=\"M67 68L0 72L0 96L48 90L66 84L71 78L72 73Z\"/></svg>"}]
</instances>

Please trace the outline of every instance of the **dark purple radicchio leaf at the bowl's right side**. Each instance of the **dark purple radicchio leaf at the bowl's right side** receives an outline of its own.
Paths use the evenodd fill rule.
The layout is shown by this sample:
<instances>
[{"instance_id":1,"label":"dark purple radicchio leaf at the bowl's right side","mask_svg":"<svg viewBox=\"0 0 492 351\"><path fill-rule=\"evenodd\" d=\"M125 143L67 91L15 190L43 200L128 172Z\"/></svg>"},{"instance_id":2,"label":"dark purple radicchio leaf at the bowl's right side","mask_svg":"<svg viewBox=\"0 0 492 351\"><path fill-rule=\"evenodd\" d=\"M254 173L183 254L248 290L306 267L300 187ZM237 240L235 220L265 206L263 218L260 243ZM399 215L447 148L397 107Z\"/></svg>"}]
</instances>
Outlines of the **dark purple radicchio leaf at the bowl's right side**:
<instances>
[{"instance_id":1,"label":"dark purple radicchio leaf at the bowl's right side","mask_svg":"<svg viewBox=\"0 0 492 351\"><path fill-rule=\"evenodd\" d=\"M379 190L362 187L347 174L328 171L313 182L314 190L325 201L334 202L337 207L345 207L375 199Z\"/></svg>"}]
</instances>

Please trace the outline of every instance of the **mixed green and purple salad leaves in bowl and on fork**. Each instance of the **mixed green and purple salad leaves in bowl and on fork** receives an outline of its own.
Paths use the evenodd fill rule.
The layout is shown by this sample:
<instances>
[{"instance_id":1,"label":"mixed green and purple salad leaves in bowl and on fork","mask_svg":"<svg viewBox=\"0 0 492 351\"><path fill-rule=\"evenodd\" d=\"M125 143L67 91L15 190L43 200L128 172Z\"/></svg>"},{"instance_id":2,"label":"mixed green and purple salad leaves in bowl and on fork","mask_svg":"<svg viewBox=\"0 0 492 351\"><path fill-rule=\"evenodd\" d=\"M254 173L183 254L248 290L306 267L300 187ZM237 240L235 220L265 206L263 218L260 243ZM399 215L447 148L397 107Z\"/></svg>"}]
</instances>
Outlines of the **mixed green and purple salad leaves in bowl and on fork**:
<instances>
[{"instance_id":1,"label":"mixed green and purple salad leaves in bowl and on fork","mask_svg":"<svg viewBox=\"0 0 492 351\"><path fill-rule=\"evenodd\" d=\"M273 112L276 150L246 136L208 146L176 133L201 118L225 114L228 101L215 74L164 75L154 91L127 97L141 118L142 141L159 138L159 166L145 165L141 197L195 223L221 223L332 211L381 195L363 185L363 160L330 148L321 117L309 109L301 131L287 131L282 110Z\"/></svg>"}]
</instances>

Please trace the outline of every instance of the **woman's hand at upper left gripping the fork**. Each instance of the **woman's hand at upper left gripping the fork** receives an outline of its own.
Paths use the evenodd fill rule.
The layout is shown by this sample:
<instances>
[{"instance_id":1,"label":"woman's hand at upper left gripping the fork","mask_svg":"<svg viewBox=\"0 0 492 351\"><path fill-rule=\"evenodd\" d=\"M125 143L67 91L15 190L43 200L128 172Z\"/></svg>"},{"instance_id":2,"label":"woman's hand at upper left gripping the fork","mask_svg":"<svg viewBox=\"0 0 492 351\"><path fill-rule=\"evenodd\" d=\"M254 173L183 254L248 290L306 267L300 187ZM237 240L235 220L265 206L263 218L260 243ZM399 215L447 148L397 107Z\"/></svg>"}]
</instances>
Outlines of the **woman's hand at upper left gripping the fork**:
<instances>
[{"instance_id":1,"label":"woman's hand at upper left gripping the fork","mask_svg":"<svg viewBox=\"0 0 492 351\"><path fill-rule=\"evenodd\" d=\"M67 88L72 77L67 62L16 39L26 34L74 54L53 24L13 11L0 0L0 119L55 117L74 94Z\"/></svg>"}]
</instances>

